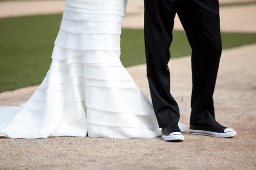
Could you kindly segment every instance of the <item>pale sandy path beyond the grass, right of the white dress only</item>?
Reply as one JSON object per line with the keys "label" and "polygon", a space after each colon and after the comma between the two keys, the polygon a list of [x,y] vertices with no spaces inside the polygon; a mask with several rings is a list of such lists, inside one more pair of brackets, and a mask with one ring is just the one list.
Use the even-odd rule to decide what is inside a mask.
{"label": "pale sandy path beyond the grass, right of the white dress only", "polygon": [[[136,2],[135,2],[136,1]],[[222,2],[222,1],[220,1]],[[222,3],[230,3],[223,1]],[[239,1],[234,1],[239,2]],[[241,1],[240,1],[241,2]],[[242,1],[243,2],[243,1]],[[246,1],[247,2],[247,1]],[[143,1],[131,0],[127,5],[124,28],[143,29]],[[220,8],[221,31],[223,32],[256,32],[256,5],[230,6]],[[183,30],[179,17],[175,17],[175,30]]]}

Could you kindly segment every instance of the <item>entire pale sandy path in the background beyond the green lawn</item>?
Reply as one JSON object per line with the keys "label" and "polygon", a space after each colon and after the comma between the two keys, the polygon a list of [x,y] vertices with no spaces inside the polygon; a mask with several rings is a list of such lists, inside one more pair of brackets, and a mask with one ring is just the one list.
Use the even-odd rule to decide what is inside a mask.
{"label": "entire pale sandy path in the background beyond the green lawn", "polygon": [[[255,0],[221,0],[221,4],[255,2]],[[62,13],[65,1],[0,1],[0,18],[38,14]],[[129,0],[123,28],[143,29],[143,0]],[[224,32],[256,32],[256,5],[220,8],[221,30]],[[178,16],[175,30],[183,30]]]}

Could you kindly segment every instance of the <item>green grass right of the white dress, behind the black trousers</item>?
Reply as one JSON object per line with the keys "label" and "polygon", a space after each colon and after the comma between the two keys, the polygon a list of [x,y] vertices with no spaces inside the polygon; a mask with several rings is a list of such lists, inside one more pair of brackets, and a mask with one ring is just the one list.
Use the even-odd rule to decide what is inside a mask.
{"label": "green grass right of the white dress, behind the black trousers", "polygon": [[[121,35],[121,61],[124,66],[145,62],[143,30],[123,29]],[[188,56],[191,48],[183,31],[173,31],[171,58]],[[255,33],[222,33],[223,49],[256,43]]]}

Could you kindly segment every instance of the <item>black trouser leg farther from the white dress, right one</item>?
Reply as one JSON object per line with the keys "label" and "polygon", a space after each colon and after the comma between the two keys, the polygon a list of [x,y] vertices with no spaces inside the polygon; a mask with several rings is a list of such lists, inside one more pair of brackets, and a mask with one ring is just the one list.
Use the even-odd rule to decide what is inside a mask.
{"label": "black trouser leg farther from the white dress, right one", "polygon": [[190,125],[215,120],[214,94],[221,57],[218,0],[177,1],[176,8],[192,48],[193,90]]}

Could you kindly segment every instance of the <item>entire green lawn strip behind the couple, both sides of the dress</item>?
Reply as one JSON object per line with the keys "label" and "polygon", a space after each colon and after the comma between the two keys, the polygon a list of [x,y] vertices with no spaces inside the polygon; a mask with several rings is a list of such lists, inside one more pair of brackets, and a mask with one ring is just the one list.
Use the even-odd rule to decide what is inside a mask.
{"label": "entire green lawn strip behind the couple, both sides of the dress", "polygon": [[[0,19],[0,92],[39,84],[51,63],[61,15]],[[145,62],[143,30],[123,29],[121,61],[124,66]],[[223,33],[223,48],[256,43],[256,34]],[[190,55],[182,31],[174,31],[172,58]]]}

